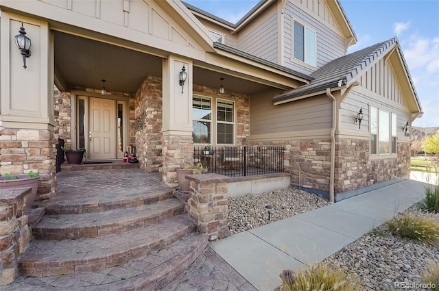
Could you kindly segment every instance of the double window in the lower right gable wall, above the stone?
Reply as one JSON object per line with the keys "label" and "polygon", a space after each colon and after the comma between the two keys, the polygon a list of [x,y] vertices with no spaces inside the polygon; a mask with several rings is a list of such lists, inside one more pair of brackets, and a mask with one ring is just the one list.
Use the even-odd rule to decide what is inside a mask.
{"label": "double window in the lower right gable wall, above the stone", "polygon": [[396,114],[370,107],[370,154],[396,153]]}

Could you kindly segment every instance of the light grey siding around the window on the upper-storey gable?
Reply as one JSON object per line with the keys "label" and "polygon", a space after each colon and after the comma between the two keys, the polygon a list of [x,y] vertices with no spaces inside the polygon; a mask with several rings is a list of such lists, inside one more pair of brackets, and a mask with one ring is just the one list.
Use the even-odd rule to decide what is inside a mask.
{"label": "light grey siding around the window on the upper-storey gable", "polygon": [[[305,5],[304,3],[307,3]],[[324,66],[346,54],[346,39],[342,36],[342,31],[329,12],[329,8],[324,3],[313,3],[317,1],[288,1],[283,13],[284,33],[284,66],[299,71],[300,73],[310,74],[317,68]],[[311,3],[313,3],[311,5]],[[300,5],[299,5],[300,4]],[[313,8],[312,10],[310,9]],[[293,58],[293,22],[305,25],[309,29],[316,31],[316,67],[310,66],[305,62]]]}

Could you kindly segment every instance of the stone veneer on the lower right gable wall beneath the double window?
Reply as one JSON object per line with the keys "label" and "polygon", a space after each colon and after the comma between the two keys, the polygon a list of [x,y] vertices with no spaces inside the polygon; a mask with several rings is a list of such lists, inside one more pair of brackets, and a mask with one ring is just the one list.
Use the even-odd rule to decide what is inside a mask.
{"label": "stone veneer on the lower right gable wall beneath the double window", "polygon": [[398,142],[398,155],[369,160],[369,140],[338,138],[334,192],[341,193],[410,175],[410,143]]}

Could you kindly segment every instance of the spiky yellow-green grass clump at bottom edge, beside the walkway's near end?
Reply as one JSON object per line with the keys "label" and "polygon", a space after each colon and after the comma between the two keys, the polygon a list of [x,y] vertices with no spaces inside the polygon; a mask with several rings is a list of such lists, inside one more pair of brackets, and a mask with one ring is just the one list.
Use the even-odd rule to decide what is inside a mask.
{"label": "spiky yellow-green grass clump at bottom edge, beside the walkway's near end", "polygon": [[284,284],[283,291],[360,291],[364,290],[361,284],[346,279],[342,269],[333,270],[326,264],[312,266],[296,274],[294,283]]}

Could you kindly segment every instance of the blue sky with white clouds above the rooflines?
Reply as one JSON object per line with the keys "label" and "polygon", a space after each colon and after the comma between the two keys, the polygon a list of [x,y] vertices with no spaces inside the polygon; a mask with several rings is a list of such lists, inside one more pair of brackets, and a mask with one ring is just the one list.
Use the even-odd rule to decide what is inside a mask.
{"label": "blue sky with white clouds above the rooflines", "polygon": [[[259,0],[183,0],[237,23]],[[396,36],[423,108],[417,127],[439,127],[439,0],[341,0],[357,35],[352,53]]]}

